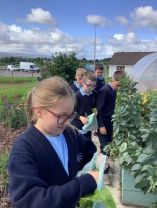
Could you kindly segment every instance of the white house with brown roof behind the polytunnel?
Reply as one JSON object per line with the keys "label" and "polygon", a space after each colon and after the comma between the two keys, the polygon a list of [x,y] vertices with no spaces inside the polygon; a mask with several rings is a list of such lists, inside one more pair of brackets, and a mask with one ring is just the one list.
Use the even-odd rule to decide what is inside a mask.
{"label": "white house with brown roof behind the polytunnel", "polygon": [[114,53],[109,62],[109,77],[112,77],[116,70],[124,70],[129,74],[133,66],[143,57],[154,52],[117,52]]}

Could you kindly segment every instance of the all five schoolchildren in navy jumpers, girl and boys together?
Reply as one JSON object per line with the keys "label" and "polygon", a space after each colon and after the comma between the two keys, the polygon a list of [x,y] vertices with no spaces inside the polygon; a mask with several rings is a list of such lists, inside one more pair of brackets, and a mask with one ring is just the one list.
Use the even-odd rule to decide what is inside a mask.
{"label": "all five schoolchildren in navy jumpers, girl and boys together", "polygon": [[14,143],[8,163],[15,208],[75,208],[81,197],[97,187],[98,171],[77,176],[96,152],[91,132],[81,129],[96,106],[98,134],[108,136],[121,75],[114,74],[104,84],[102,69],[95,74],[81,70],[82,75],[76,72],[75,86],[55,76],[40,81],[28,95],[30,126]]}

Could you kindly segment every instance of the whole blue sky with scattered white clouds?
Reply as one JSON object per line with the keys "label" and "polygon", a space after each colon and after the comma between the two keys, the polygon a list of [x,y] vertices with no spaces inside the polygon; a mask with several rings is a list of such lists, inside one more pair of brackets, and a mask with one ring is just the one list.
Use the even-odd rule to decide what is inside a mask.
{"label": "whole blue sky with scattered white clouds", "polygon": [[157,51],[157,0],[0,0],[0,51],[93,59]]}

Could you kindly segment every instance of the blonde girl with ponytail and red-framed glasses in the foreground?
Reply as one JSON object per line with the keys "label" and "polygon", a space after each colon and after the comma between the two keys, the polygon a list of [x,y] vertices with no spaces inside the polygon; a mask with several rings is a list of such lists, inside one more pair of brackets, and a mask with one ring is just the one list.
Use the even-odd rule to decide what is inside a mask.
{"label": "blonde girl with ponytail and red-framed glasses in the foreground", "polygon": [[75,95],[60,77],[42,80],[29,94],[32,125],[16,140],[8,164],[15,208],[75,208],[95,191],[98,172],[77,177],[96,147],[70,125],[74,105]]}

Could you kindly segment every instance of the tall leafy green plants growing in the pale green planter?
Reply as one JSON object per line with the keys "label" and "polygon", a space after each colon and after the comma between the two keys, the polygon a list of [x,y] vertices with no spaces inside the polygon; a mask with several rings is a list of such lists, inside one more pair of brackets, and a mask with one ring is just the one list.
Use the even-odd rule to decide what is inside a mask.
{"label": "tall leafy green plants growing in the pale green planter", "polygon": [[113,142],[106,150],[134,175],[135,187],[157,192],[157,110],[148,100],[143,103],[136,84],[129,77],[121,80],[113,115]]}

